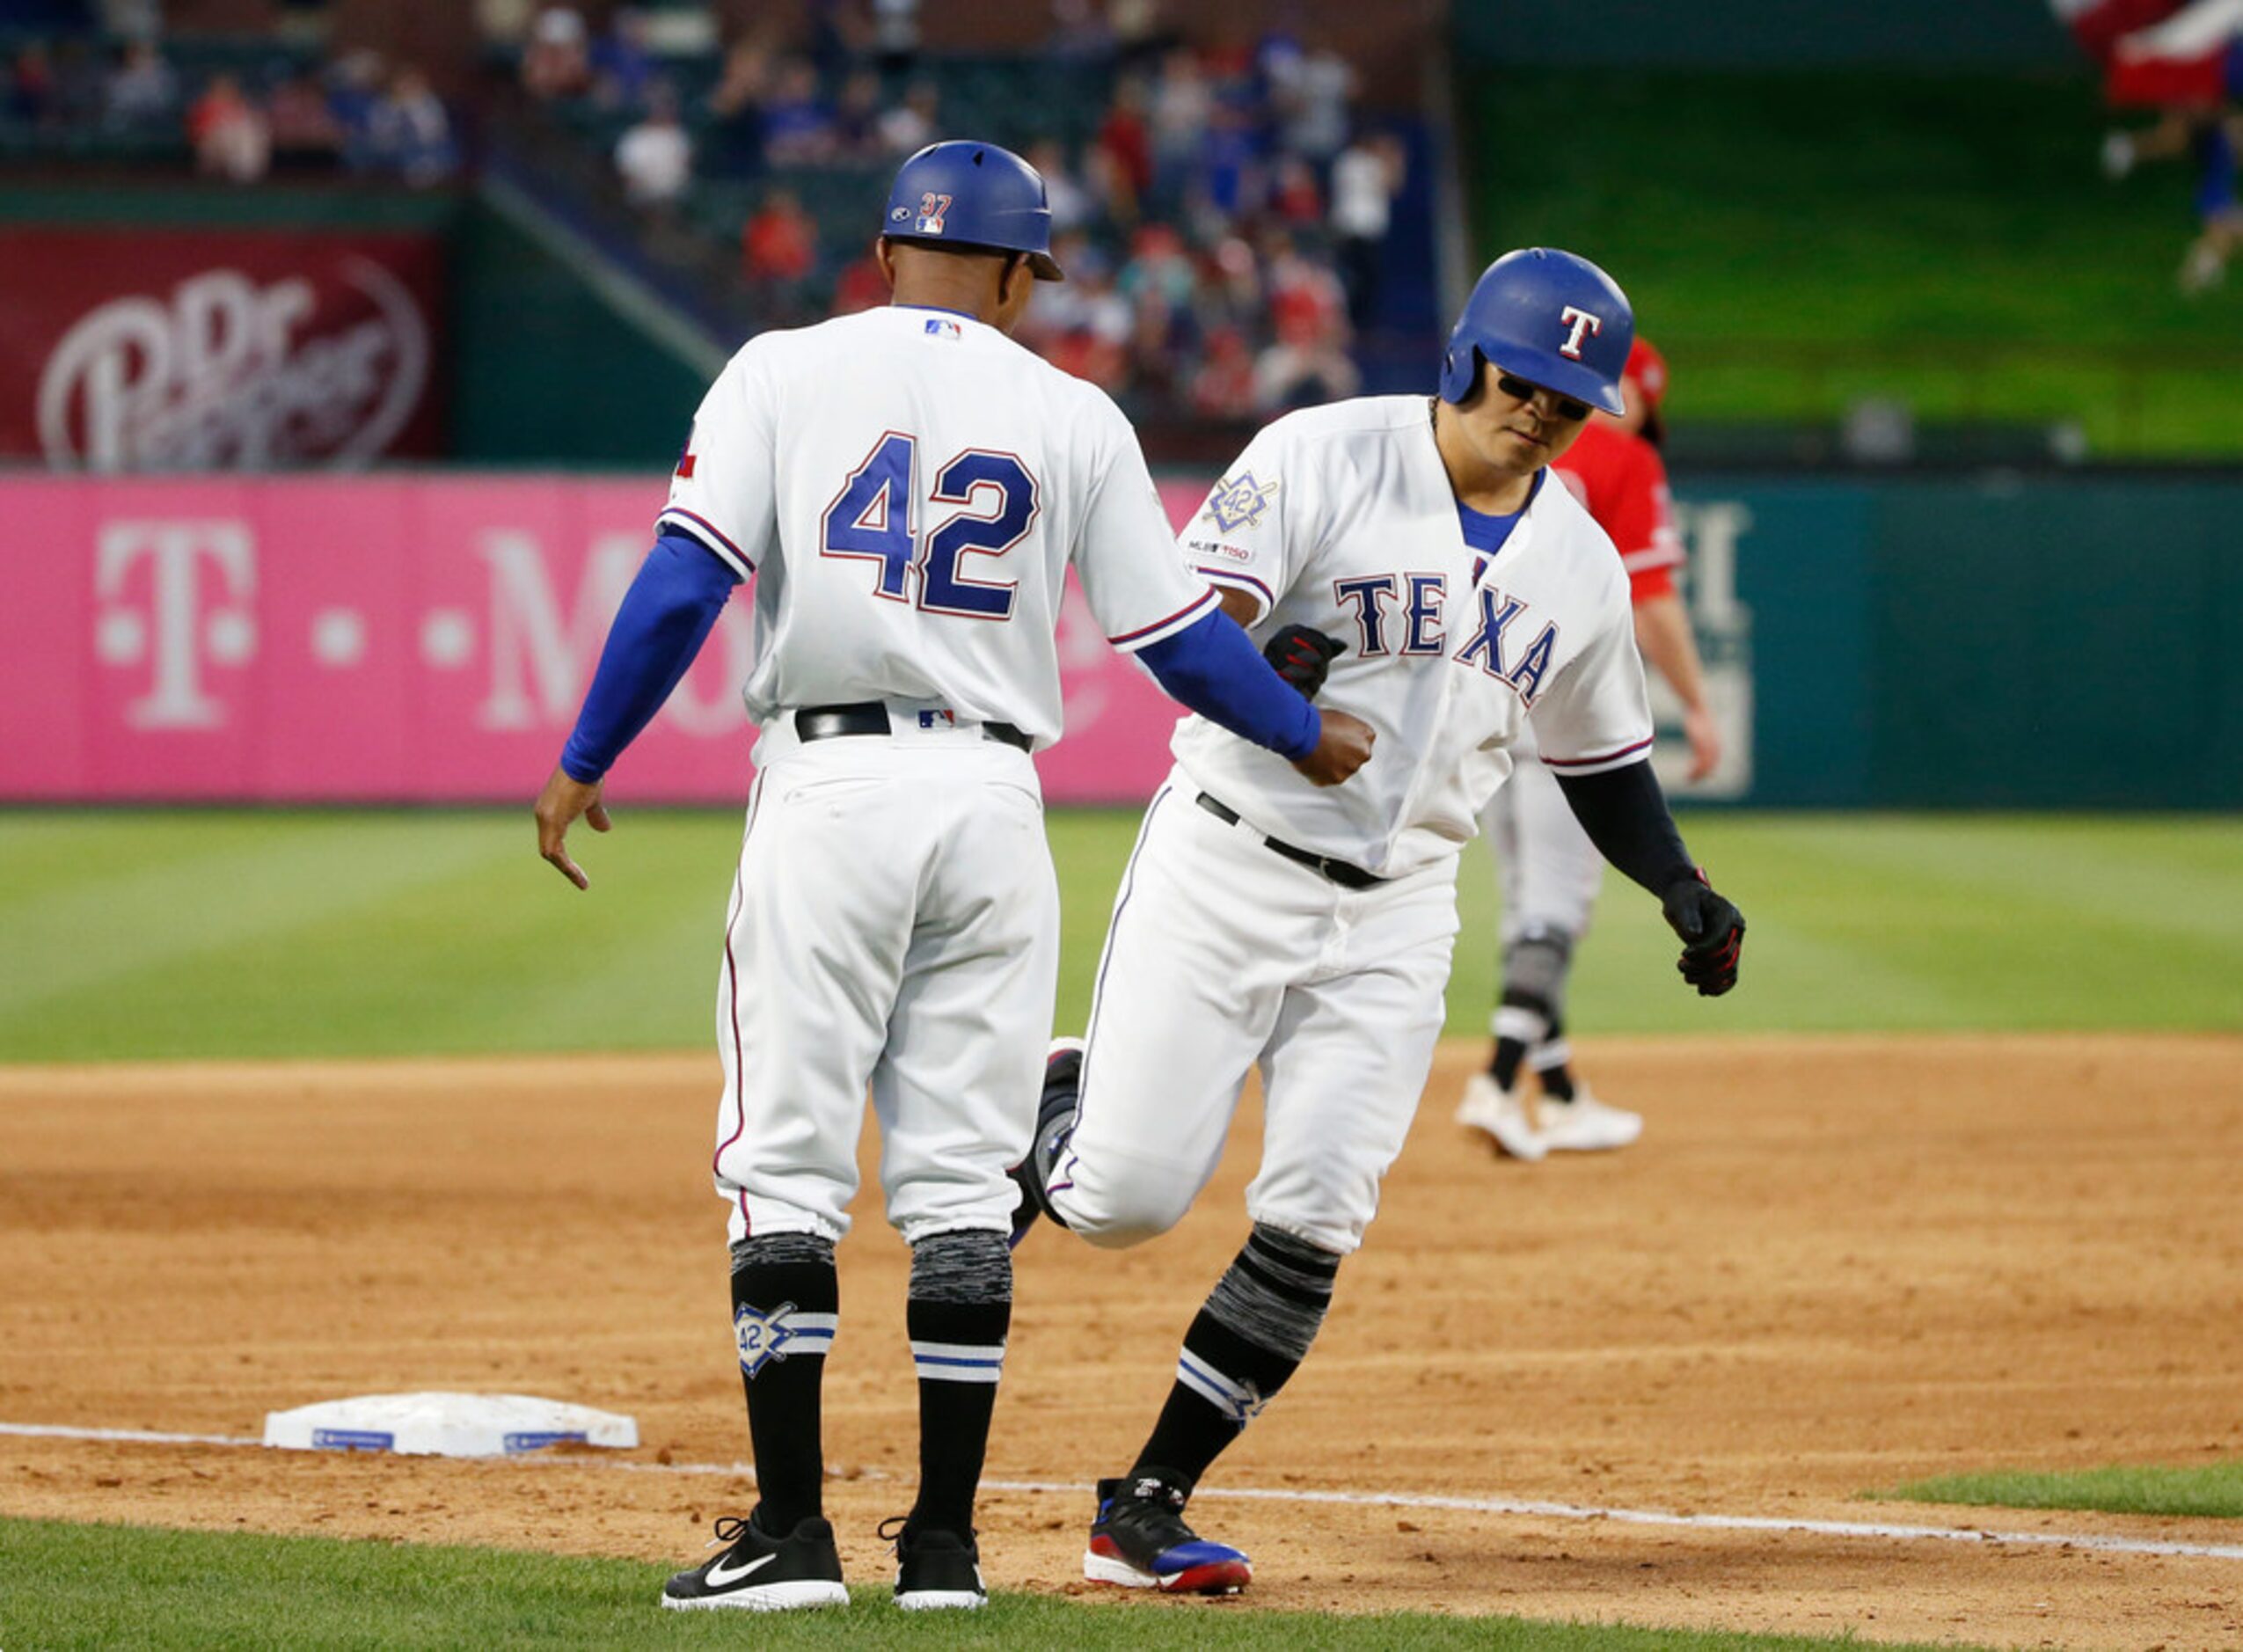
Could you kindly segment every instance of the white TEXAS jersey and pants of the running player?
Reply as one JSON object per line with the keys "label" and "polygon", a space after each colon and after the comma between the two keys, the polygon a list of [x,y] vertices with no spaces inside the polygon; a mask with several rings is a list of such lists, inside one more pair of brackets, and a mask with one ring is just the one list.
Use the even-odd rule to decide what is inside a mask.
{"label": "white TEXAS jersey and pants of the running player", "polygon": [[[1480,568],[1424,397],[1292,413],[1182,534],[1254,631],[1341,637],[1319,705],[1377,750],[1344,786],[1191,718],[1122,875],[1052,1208],[1092,1243],[1173,1226],[1207,1185],[1249,1068],[1263,1163],[1247,1212],[1348,1252],[1377,1210],[1442,1024],[1458,848],[1532,714],[1577,774],[1642,761],[1651,705],[1628,577],[1543,478]],[[1225,813],[1200,806],[1218,799]],[[1386,878],[1355,887],[1265,839]]]}

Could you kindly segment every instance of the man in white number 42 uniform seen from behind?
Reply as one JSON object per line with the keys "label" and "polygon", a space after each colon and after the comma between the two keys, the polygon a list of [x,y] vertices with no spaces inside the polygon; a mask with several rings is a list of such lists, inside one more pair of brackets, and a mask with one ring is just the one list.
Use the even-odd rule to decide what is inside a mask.
{"label": "man in white number 42 uniform seen from behind", "polygon": [[1173,554],[1113,402],[1007,337],[1034,283],[1061,278],[1034,168],[935,144],[904,162],[881,229],[890,308],[765,332],[709,388],[538,799],[541,853],[583,887],[567,826],[608,830],[601,777],[754,579],[758,774],[718,976],[713,1172],[760,1499],[671,1578],[675,1609],[848,1600],[819,1394],[868,1086],[920,1374],[920,1495],[884,1531],[895,1596],[985,1600],[973,1493],[1012,1320],[1007,1172],[1059,947],[1030,752],[1061,732],[1068,568],[1115,646],[1310,788],[1373,738],[1317,716]]}

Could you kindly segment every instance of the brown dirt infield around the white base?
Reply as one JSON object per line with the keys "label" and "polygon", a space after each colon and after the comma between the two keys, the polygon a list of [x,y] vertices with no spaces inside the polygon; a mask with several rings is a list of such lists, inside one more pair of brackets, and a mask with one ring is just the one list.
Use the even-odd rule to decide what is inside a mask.
{"label": "brown dirt infield around the white base", "polygon": [[[2243,1542],[1855,1499],[2243,1454],[2243,1039],[1606,1041],[1590,1071],[1644,1142],[1539,1167],[1449,1125],[1471,1057],[1444,1053],[1317,1353],[1198,1504],[1256,1555],[1249,1600],[2243,1648],[2243,1560],[1218,1499]],[[716,1077],[713,1055],[0,1071],[0,1423],[249,1437],[343,1394],[532,1392],[633,1412],[648,1470],[0,1437],[0,1511],[693,1555],[751,1502],[682,1472],[745,1454]],[[1234,1142],[1142,1250],[1023,1248],[989,1472],[1083,1490],[987,1497],[991,1585],[1081,1587],[1088,1481],[1166,1392],[1252,1167]],[[877,1578],[913,1463],[906,1252],[861,1199],[841,1257],[830,1513]]]}

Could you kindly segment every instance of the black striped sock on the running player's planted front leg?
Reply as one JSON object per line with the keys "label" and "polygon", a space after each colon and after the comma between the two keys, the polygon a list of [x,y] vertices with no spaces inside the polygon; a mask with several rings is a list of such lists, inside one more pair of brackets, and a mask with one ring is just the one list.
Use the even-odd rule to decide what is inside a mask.
{"label": "black striped sock on the running player's planted front leg", "polygon": [[1184,1333],[1175,1387],[1130,1475],[1160,1475],[1189,1495],[1301,1369],[1337,1275],[1337,1252],[1256,1223]]}

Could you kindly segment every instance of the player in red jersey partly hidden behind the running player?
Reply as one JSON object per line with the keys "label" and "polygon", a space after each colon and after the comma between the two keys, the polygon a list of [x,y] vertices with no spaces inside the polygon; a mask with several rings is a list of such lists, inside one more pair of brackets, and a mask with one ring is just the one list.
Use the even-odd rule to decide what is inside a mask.
{"label": "player in red jersey partly hidden behind the running player", "polygon": [[[1628,355],[1619,393],[1626,413],[1597,413],[1550,469],[1588,505],[1628,570],[1635,646],[1682,700],[1689,777],[1696,781],[1720,763],[1720,729],[1707,707],[1689,611],[1676,590],[1682,536],[1676,532],[1667,462],[1660,458],[1667,435],[1660,413],[1667,400],[1667,361],[1642,339]],[[1597,1100],[1572,1075],[1566,981],[1572,974],[1572,952],[1588,934],[1604,857],[1572,817],[1557,779],[1534,756],[1532,743],[1514,750],[1514,756],[1516,768],[1483,822],[1503,871],[1503,999],[1492,1026],[1496,1048],[1487,1071],[1465,1086],[1456,1118],[1494,1136],[1512,1158],[1532,1163],[1550,1151],[1626,1147],[1642,1134],[1644,1120]],[[1534,1068],[1539,1098],[1525,1093],[1523,1066]]]}

